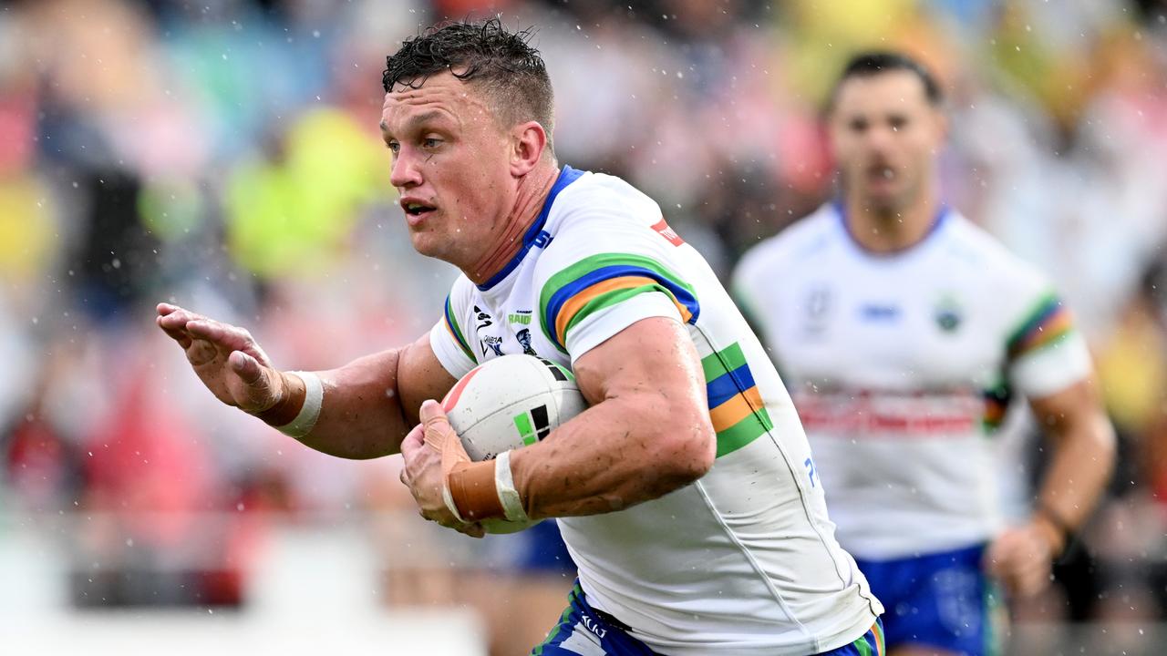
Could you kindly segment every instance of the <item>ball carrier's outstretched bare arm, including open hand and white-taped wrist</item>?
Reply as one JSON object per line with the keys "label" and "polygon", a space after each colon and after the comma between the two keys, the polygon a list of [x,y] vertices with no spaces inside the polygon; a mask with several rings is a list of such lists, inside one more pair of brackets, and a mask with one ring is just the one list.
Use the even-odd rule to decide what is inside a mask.
{"label": "ball carrier's outstretched bare arm, including open hand and white-taped wrist", "polygon": [[[305,379],[275,369],[245,329],[169,303],[159,305],[158,313],[159,327],[182,347],[219,400],[275,427],[301,417],[309,399]],[[320,411],[310,431],[296,439],[351,459],[397,453],[417,423],[421,400],[441,398],[455,383],[426,336],[314,375],[322,392]]]}

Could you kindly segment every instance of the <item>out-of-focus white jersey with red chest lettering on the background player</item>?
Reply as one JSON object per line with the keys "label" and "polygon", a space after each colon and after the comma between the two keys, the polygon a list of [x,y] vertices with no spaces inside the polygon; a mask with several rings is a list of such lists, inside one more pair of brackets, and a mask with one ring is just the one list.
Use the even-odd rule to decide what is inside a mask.
{"label": "out-of-focus white jersey with red chest lettering on the background player", "polygon": [[990,539],[992,439],[1009,399],[1090,372],[1043,278],[952,210],[880,254],[824,205],[749,251],[734,292],[790,384],[839,542],[858,558]]}

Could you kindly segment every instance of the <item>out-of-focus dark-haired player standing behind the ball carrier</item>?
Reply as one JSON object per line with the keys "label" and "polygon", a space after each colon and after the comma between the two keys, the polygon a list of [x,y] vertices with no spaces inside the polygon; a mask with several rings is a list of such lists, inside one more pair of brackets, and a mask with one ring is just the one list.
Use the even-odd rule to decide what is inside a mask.
{"label": "out-of-focus dark-haired player standing behind the ball carrier", "polygon": [[[1069,312],[941,201],[941,105],[916,62],[853,58],[827,111],[840,200],[748,252],[734,281],[901,656],[987,652],[984,574],[1040,591],[1113,462]],[[1054,455],[1032,519],[1002,530],[992,434],[1014,393]]]}

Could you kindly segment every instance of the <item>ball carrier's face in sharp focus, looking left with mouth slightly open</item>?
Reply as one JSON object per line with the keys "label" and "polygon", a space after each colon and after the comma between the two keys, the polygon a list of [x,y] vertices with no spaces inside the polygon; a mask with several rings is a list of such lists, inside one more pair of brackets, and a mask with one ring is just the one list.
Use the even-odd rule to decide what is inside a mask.
{"label": "ball carrier's face in sharp focus, looking left with mouth slightly open", "polygon": [[434,75],[386,93],[380,126],[413,247],[455,265],[480,260],[516,195],[508,135],[482,93]]}

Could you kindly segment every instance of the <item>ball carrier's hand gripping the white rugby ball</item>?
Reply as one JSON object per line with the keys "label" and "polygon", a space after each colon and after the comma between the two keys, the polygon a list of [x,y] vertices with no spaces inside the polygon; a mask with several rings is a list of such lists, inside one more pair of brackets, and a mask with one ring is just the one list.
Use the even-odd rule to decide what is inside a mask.
{"label": "ball carrier's hand gripping the white rugby ball", "polygon": [[481,538],[485,535],[482,525],[477,522],[459,521],[446,507],[442,497],[449,473],[459,465],[470,462],[470,456],[462,447],[462,440],[450,427],[446,412],[438,402],[422,403],[419,418],[421,424],[414,426],[401,442],[401,458],[405,460],[401,482],[410,488],[422,517]]}

